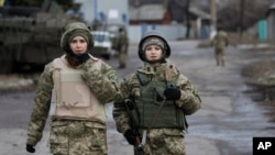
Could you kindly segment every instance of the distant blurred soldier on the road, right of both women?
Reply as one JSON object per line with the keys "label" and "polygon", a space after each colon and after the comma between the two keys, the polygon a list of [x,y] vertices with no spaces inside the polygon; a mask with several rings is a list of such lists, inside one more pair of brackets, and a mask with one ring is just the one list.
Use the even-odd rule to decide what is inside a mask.
{"label": "distant blurred soldier on the road, right of both women", "polygon": [[217,62],[217,66],[220,66],[220,65],[224,66],[226,65],[224,64],[224,51],[229,44],[228,34],[224,31],[222,31],[221,27],[218,27],[217,34],[215,35],[211,44],[215,46],[215,58]]}

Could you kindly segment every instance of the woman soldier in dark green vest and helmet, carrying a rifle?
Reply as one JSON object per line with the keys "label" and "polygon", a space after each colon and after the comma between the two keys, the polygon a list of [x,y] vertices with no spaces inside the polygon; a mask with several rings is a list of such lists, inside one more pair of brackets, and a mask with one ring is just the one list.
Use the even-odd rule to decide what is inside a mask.
{"label": "woman soldier in dark green vest and helmet, carrying a rifle", "polygon": [[122,99],[114,102],[117,130],[134,145],[135,155],[185,155],[185,115],[200,109],[190,80],[167,63],[167,41],[147,32],[139,44],[144,66],[121,84]]}

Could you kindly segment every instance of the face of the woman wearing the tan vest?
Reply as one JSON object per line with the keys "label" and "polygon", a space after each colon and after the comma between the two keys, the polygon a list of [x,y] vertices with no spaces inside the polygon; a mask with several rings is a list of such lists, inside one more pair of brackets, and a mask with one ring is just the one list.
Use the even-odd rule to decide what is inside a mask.
{"label": "face of the woman wearing the tan vest", "polygon": [[87,51],[88,43],[82,36],[75,36],[69,43],[70,49],[74,54],[84,54]]}

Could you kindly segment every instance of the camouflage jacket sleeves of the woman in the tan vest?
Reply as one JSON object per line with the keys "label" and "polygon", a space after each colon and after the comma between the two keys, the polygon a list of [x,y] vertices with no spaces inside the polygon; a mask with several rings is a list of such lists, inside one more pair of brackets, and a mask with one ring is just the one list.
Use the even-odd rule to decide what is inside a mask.
{"label": "camouflage jacket sleeves of the woman in the tan vest", "polygon": [[[95,59],[90,58],[79,65],[77,69],[84,70],[84,80],[101,103],[111,102],[120,95],[117,73],[103,62],[101,63],[100,70],[95,69],[94,64]],[[37,84],[34,97],[35,103],[28,128],[26,143],[31,145],[36,145],[42,139],[42,131],[50,113],[52,90],[54,88],[53,70],[54,66],[52,62],[45,66]]]}

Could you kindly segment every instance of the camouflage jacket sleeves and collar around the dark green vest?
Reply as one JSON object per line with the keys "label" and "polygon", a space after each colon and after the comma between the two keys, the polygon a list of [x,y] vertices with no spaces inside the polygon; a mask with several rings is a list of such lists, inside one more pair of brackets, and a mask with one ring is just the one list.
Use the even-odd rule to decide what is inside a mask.
{"label": "camouflage jacket sleeves and collar around the dark green vest", "polygon": [[[179,70],[175,65],[167,63],[161,65],[145,64],[144,67],[139,69],[139,71],[151,74],[152,80],[163,80],[164,78],[172,78],[174,75],[179,74]],[[164,77],[165,75],[166,77]],[[125,110],[123,99],[132,97],[140,98],[140,87],[141,85],[135,74],[129,75],[121,84],[122,99],[114,102],[112,113],[117,124],[117,130],[121,133],[124,133],[128,129],[130,129],[130,118]],[[182,92],[180,98],[176,101],[176,106],[182,108],[185,114],[193,114],[200,109],[201,100],[198,92],[185,75],[179,74],[176,87],[179,88]]]}

